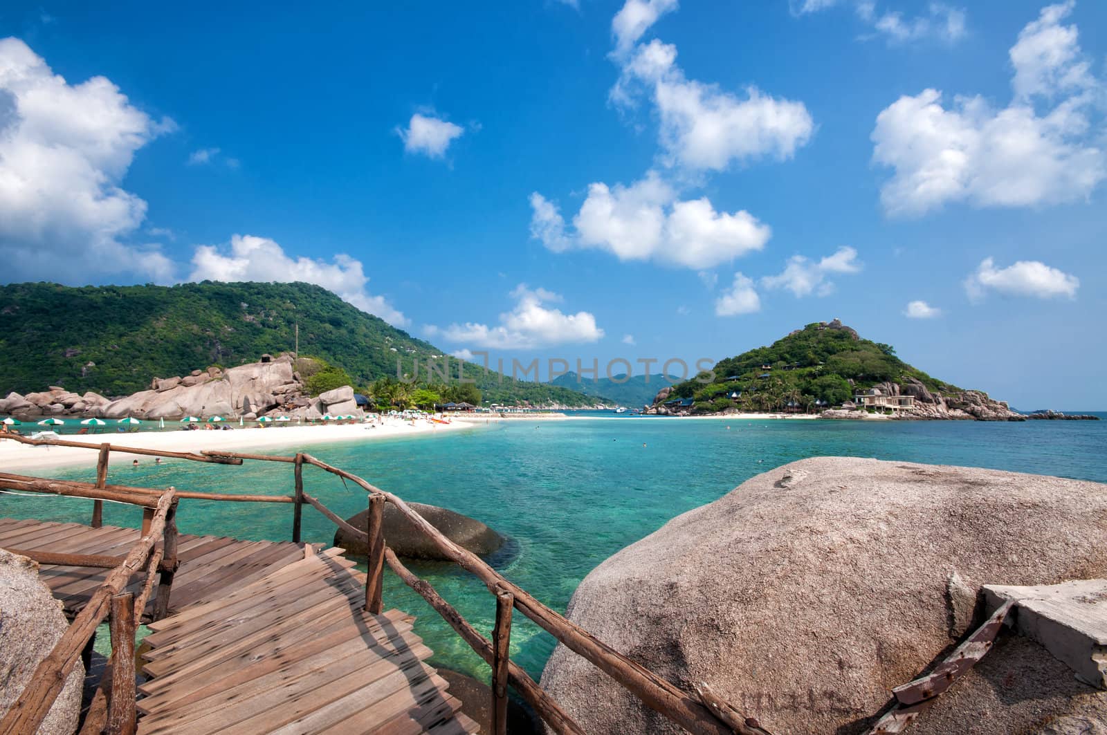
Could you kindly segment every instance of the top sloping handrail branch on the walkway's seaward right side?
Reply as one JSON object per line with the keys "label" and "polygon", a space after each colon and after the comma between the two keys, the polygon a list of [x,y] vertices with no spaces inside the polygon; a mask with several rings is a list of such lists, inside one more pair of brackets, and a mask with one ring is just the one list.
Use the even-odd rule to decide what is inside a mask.
{"label": "top sloping handrail branch on the walkway's seaward right side", "polygon": [[344,477],[369,493],[384,496],[389,503],[394,505],[397,510],[422,530],[447,559],[475,574],[493,594],[496,594],[500,587],[510,592],[515,596],[516,610],[538,623],[538,625],[554,635],[570,651],[583,656],[600,669],[600,671],[611,676],[651,710],[669,717],[684,729],[695,733],[695,735],[733,735],[734,731],[716,717],[697,698],[693,698],[692,695],[683,692],[675,684],[631,661],[607,643],[596,639],[583,628],[547,608],[526,590],[501,577],[499,572],[489,567],[480,557],[443,536],[437,528],[432,526],[430,521],[395,495],[382,490],[356,475],[328,465],[310,454],[304,454],[303,460],[333,475]]}

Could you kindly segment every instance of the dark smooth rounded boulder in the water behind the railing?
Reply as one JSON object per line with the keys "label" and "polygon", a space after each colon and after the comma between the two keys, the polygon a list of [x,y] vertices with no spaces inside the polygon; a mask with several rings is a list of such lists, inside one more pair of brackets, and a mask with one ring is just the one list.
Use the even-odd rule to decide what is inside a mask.
{"label": "dark smooth rounded boulder in the water behind the railing", "polygon": [[[426,518],[432,526],[443,532],[454,544],[473,553],[488,555],[504,545],[504,537],[488,528],[479,520],[463,516],[459,513],[425,505],[408,503],[418,515]],[[369,510],[348,518],[346,522],[359,530],[369,527]],[[410,559],[445,559],[431,539],[426,537],[407,516],[396,510],[391,503],[384,506],[384,542],[396,556]],[[368,552],[365,542],[360,537],[351,537],[341,528],[334,534],[334,546],[345,549],[354,556]]]}

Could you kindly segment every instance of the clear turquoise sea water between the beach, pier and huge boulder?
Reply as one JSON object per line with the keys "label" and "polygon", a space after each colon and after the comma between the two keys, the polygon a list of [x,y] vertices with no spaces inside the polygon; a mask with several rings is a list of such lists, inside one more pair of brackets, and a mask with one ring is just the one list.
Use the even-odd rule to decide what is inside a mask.
{"label": "clear turquoise sea water between the beach, pier and huge boulder", "polygon": [[[509,536],[511,542],[490,560],[493,566],[559,611],[580,580],[622,547],[761,472],[805,457],[851,455],[1107,482],[1107,421],[513,421],[438,437],[308,451],[404,499],[445,506]],[[87,472],[58,475],[94,479]],[[144,459],[137,469],[113,467],[110,482],[283,494],[291,491],[292,469],[257,462],[154,466]],[[304,485],[343,517],[365,507],[362,490],[322,470],[306,468]],[[106,505],[104,522],[138,525],[135,509]],[[0,495],[2,516],[87,522],[91,509],[92,503],[82,499]],[[332,540],[334,527],[320,514],[306,508],[303,520],[304,540]],[[291,508],[188,500],[179,524],[187,534],[287,540]],[[476,578],[445,563],[408,566],[469,622],[490,631],[495,600]],[[416,631],[435,651],[435,664],[487,676],[484,662],[391,572],[384,596],[386,607],[418,617]],[[537,679],[555,641],[521,615],[515,618],[511,656]]]}

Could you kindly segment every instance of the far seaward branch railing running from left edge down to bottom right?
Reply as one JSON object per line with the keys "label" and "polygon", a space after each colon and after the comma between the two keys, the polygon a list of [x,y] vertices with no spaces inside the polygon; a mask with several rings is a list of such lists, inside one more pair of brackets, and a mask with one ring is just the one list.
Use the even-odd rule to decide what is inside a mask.
{"label": "far seaward branch railing running from left edge down to bottom right", "polygon": [[[395,495],[382,490],[361,477],[333,467],[310,454],[300,453],[291,457],[247,454],[237,452],[206,451],[196,453],[184,452],[162,452],[157,449],[145,449],[136,447],[125,447],[114,444],[86,444],[80,442],[60,439],[29,439],[25,437],[10,437],[18,442],[48,446],[71,446],[89,449],[99,449],[100,458],[97,463],[96,487],[90,490],[84,483],[65,483],[62,480],[46,480],[38,478],[25,478],[14,475],[0,474],[0,488],[27,489],[40,493],[60,493],[63,495],[74,495],[77,497],[96,497],[95,490],[100,493],[111,491],[116,497],[136,497],[145,494],[148,498],[154,490],[143,488],[128,488],[106,484],[108,456],[112,452],[124,454],[141,454],[164,457],[175,457],[194,462],[208,462],[225,465],[240,465],[244,460],[281,462],[293,465],[294,494],[291,496],[279,495],[219,495],[214,493],[186,493],[175,491],[174,498],[195,498],[206,500],[225,501],[257,501],[257,503],[291,503],[293,505],[292,540],[300,542],[301,513],[303,504],[308,504],[319,510],[323,516],[342,528],[346,534],[355,535],[366,542],[369,571],[365,579],[365,610],[373,614],[383,611],[382,581],[384,566],[387,565],[395,574],[408,587],[415,590],[439,615],[453,628],[482,659],[484,659],[493,670],[493,732],[503,735],[507,729],[507,687],[514,686],[516,692],[538,713],[555,733],[568,733],[582,735],[581,727],[535,682],[521,666],[510,661],[508,651],[510,646],[511,611],[517,610],[540,628],[549,632],[562,645],[583,656],[590,663],[608,674],[620,686],[635,695],[651,710],[659,712],[670,721],[680,725],[684,729],[696,735],[727,735],[739,733],[741,735],[767,735],[756,721],[744,717],[733,705],[715,696],[710,687],[703,686],[697,693],[686,692],[672,682],[654,674],[649,669],[630,660],[619,653],[608,644],[594,638],[587,630],[576,623],[570,622],[558,612],[546,607],[526,590],[514,584],[504,578],[498,571],[475,553],[454,544],[444,536],[437,528],[431,525],[423,516],[412,509],[403,499]],[[369,519],[366,531],[354,528],[340,516],[331,511],[318,498],[312,497],[303,488],[303,466],[311,465],[327,473],[350,480],[369,494]],[[64,490],[64,491],[62,491]],[[134,501],[134,500],[127,500]],[[496,624],[493,630],[493,640],[482,635],[455,608],[446,602],[435,589],[425,580],[412,573],[400,561],[396,555],[390,549],[384,539],[382,518],[384,504],[391,503],[402,515],[404,515],[420,531],[426,536],[438,548],[445,559],[453,561],[461,568],[473,573],[488,588],[496,600]],[[93,522],[99,522],[97,510],[93,511]],[[143,537],[146,538],[145,536]],[[170,583],[172,583],[172,572]],[[163,577],[164,579],[164,577]],[[167,600],[167,596],[166,596]],[[161,602],[161,599],[159,599]],[[87,609],[87,608],[86,608]],[[83,613],[82,613],[83,614]],[[74,623],[75,624],[75,623]],[[93,629],[95,627],[93,625]],[[91,633],[90,633],[91,634]],[[87,639],[85,639],[87,640]],[[4,720],[7,723],[7,718]],[[0,735],[8,732],[0,729]]]}

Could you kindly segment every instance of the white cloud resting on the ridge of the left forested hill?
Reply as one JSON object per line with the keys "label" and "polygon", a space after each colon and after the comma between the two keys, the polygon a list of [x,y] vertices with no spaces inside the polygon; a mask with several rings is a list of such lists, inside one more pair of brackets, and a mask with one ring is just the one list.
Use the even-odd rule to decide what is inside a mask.
{"label": "white cloud resting on the ridge of the left forested hill", "polygon": [[235,235],[230,238],[230,252],[201,245],[193,255],[189,281],[262,281],[290,283],[303,281],[333,291],[362,311],[375,314],[396,327],[407,324],[407,319],[384,297],[372,296],[365,290],[369,277],[360,260],[346,255],[334,256],[333,262],[311,258],[292,258],[273,240],[254,235]]}

